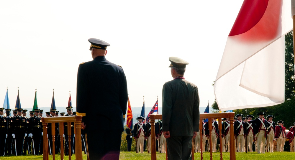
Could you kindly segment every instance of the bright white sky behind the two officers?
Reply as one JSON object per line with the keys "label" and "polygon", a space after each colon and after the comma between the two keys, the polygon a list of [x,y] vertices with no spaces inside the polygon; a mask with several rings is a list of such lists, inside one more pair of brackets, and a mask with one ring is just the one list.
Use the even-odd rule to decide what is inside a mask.
{"label": "bright white sky behind the two officers", "polygon": [[[152,107],[172,80],[171,56],[188,61],[184,77],[199,88],[200,107],[212,105],[227,36],[242,0],[0,1],[0,105],[6,86],[14,109],[76,106],[78,66],[92,60],[89,38],[111,44],[106,59],[121,65],[131,107]],[[97,91],[102,92],[102,91]]]}

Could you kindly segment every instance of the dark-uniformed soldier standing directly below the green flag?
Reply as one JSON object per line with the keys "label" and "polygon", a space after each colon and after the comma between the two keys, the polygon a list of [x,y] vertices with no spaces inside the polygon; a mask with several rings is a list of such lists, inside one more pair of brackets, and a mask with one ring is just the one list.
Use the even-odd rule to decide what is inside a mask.
{"label": "dark-uniformed soldier standing directly below the green flag", "polygon": [[[41,136],[43,136],[42,121],[39,117],[39,109],[35,109],[35,116],[29,120],[29,136],[34,140],[35,155],[39,155]],[[33,145],[33,144],[32,144]],[[32,151],[34,153],[34,151]]]}

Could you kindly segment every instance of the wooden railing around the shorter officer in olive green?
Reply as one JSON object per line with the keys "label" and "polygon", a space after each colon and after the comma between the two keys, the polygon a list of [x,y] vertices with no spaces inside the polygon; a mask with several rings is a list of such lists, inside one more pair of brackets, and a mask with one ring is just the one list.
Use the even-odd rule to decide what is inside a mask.
{"label": "wooden railing around the shorter officer in olive green", "polygon": [[[234,112],[226,112],[226,113],[203,113],[200,114],[200,125],[199,130],[202,131],[203,129],[203,118],[209,119],[209,137],[210,139],[212,136],[212,119],[216,118],[218,119],[218,128],[219,128],[219,139],[221,138],[221,130],[222,130],[222,118],[229,118],[230,119],[230,160],[236,159],[236,153],[235,153],[235,136],[234,136]],[[162,114],[150,114],[150,122],[151,122],[151,135],[155,135],[155,119],[162,119]],[[205,134],[205,133],[204,133]],[[201,134],[200,134],[201,135]],[[202,136],[200,136],[200,142],[202,142]],[[221,141],[220,141],[221,142]],[[210,140],[210,159],[212,160],[212,141]],[[166,148],[167,149],[167,148]],[[201,149],[201,160],[203,159],[203,147],[202,143],[200,143],[200,149]],[[222,160],[222,145],[220,145],[220,160]],[[192,149],[192,155],[194,155],[193,149]],[[194,156],[193,156],[194,157]],[[151,137],[151,160],[156,160],[156,139],[154,136]],[[166,151],[166,159],[167,158],[167,151]],[[194,158],[193,158],[194,159]]]}

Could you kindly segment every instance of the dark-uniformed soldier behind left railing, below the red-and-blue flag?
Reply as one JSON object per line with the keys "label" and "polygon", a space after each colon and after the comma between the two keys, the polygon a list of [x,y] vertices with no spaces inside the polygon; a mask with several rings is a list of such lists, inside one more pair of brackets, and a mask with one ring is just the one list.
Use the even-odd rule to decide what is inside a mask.
{"label": "dark-uniformed soldier behind left railing, below the red-and-blue flag", "polygon": [[[69,106],[66,107],[68,114],[65,116],[73,116],[73,107]],[[68,123],[63,123],[64,129],[63,129],[63,134],[64,134],[64,139],[65,139],[65,155],[69,155],[69,136],[68,136]],[[73,146],[74,146],[74,122],[71,123],[71,155],[73,154]]]}

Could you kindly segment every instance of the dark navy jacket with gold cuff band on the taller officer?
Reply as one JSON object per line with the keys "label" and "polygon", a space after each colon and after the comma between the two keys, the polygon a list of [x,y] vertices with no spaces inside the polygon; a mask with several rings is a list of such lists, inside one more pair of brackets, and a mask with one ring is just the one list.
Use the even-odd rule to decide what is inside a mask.
{"label": "dark navy jacket with gold cuff band on the taller officer", "polygon": [[[123,69],[98,56],[81,63],[77,75],[77,115],[87,130],[124,131],[127,110],[127,80]],[[99,112],[96,112],[99,111]],[[95,113],[95,114],[94,114]]]}

